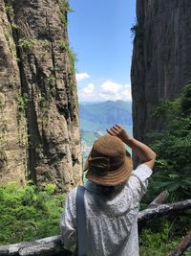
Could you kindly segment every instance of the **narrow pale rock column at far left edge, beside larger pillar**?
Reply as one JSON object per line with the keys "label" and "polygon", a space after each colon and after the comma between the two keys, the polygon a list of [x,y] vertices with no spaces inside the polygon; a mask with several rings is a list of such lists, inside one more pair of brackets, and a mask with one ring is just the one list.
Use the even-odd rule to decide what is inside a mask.
{"label": "narrow pale rock column at far left edge, beside larger pillar", "polygon": [[0,181],[23,184],[26,174],[26,122],[18,111],[21,93],[11,24],[0,1]]}

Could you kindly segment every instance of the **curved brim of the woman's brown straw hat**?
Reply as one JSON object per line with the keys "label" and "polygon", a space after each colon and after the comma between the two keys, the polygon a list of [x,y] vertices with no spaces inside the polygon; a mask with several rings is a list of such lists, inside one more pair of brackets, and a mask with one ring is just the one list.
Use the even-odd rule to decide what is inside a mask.
{"label": "curved brim of the woman's brown straw hat", "polygon": [[[84,171],[88,170],[88,168],[89,168],[89,163],[87,158]],[[132,171],[133,171],[132,158],[129,156],[126,156],[124,164],[120,168],[118,168],[116,171],[110,171],[105,176],[99,176],[91,172],[90,170],[88,170],[86,177],[98,185],[117,186],[127,181],[129,176],[132,174]]]}

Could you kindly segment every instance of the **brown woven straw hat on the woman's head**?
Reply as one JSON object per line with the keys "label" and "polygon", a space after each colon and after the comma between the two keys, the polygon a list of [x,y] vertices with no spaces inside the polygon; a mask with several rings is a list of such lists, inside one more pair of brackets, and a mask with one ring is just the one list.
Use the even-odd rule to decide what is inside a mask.
{"label": "brown woven straw hat on the woman's head", "polygon": [[116,186],[132,174],[133,164],[119,138],[103,135],[93,145],[85,163],[86,170],[86,177],[96,184]]}

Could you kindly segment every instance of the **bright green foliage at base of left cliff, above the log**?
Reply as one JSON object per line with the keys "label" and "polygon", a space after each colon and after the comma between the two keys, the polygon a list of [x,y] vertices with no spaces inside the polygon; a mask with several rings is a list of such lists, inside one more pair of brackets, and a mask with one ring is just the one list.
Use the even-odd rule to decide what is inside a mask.
{"label": "bright green foliage at base of left cliff, above the log", "polygon": [[0,185],[0,244],[31,241],[60,232],[59,221],[64,197],[54,194],[55,186],[44,191],[14,182]]}

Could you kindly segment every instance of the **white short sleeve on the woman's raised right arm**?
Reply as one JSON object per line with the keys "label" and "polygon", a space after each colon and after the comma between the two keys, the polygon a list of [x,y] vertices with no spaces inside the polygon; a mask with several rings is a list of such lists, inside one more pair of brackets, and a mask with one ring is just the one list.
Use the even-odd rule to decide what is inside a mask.
{"label": "white short sleeve on the woman's raised right arm", "polygon": [[141,199],[146,193],[148,187],[148,178],[152,175],[153,171],[145,164],[141,164],[133,171],[129,178],[129,186],[138,194],[138,199]]}

